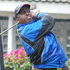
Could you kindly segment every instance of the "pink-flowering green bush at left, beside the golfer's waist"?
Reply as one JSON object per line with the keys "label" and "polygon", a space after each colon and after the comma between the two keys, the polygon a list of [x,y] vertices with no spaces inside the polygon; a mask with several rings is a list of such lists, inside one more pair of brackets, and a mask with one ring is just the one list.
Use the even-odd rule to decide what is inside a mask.
{"label": "pink-flowering green bush at left, beside the golfer's waist", "polygon": [[4,66],[6,70],[30,70],[31,64],[28,61],[24,48],[5,53]]}

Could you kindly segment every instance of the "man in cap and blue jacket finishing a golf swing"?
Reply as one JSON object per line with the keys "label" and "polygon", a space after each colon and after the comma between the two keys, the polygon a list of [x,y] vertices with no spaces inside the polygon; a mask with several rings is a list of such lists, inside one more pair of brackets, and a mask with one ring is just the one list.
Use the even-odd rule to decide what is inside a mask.
{"label": "man in cap and blue jacket finishing a golf swing", "polygon": [[29,4],[15,9],[17,34],[33,64],[32,70],[57,70],[65,67],[66,55],[51,32],[55,22],[47,13],[30,11]]}

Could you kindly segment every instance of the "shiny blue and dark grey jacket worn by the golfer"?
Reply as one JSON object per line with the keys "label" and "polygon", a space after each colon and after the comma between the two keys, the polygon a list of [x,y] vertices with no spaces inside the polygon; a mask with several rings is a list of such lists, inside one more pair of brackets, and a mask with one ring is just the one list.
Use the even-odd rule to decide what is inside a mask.
{"label": "shiny blue and dark grey jacket worn by the golfer", "polygon": [[[22,45],[24,46],[29,61],[30,56],[35,52],[34,47],[36,47],[31,47],[31,43],[35,40],[37,43],[38,40],[43,38],[44,48],[42,49],[40,56],[41,64],[33,63],[35,68],[62,68],[65,66],[67,57],[55,35],[51,32],[54,24],[54,19],[51,16],[46,13],[39,13],[36,19],[26,24],[17,25],[17,34]],[[41,45],[42,43],[39,43],[39,49]]]}

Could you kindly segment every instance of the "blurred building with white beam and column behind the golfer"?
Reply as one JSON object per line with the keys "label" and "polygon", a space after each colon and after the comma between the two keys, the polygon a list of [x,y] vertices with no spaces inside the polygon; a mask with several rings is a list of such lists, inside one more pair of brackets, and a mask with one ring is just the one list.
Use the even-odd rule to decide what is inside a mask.
{"label": "blurred building with white beam and column behind the golfer", "polygon": [[[32,11],[46,12],[55,19],[53,33],[70,59],[70,0],[0,0],[1,32],[15,24],[14,10],[20,3],[32,4]],[[3,53],[21,48],[16,27],[1,35]]]}

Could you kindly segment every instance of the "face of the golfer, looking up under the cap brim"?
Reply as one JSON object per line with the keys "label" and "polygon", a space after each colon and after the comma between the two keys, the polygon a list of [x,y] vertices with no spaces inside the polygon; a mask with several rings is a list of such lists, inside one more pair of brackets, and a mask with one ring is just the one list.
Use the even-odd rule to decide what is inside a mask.
{"label": "face of the golfer, looking up under the cap brim", "polygon": [[24,10],[21,10],[17,15],[16,20],[19,21],[21,24],[25,24],[27,22],[32,21],[32,14],[30,12],[30,9],[24,8]]}

